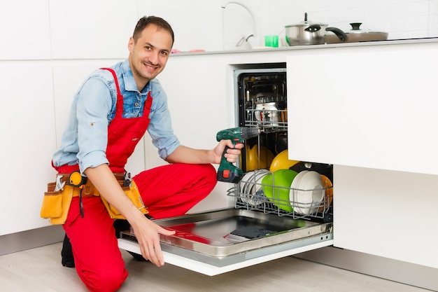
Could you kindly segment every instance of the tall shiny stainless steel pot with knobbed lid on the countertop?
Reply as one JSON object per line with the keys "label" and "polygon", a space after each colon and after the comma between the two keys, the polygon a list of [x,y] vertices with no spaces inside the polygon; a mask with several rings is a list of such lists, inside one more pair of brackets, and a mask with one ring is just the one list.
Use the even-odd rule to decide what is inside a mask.
{"label": "tall shiny stainless steel pot with knobbed lid on the countertop", "polygon": [[289,46],[322,45],[326,28],[326,24],[307,21],[305,13],[304,22],[285,26],[286,42]]}

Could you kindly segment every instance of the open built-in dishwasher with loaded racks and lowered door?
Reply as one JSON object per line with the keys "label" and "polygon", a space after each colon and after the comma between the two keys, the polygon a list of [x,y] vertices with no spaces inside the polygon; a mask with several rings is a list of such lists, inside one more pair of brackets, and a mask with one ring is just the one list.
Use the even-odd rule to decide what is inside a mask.
{"label": "open built-in dishwasher with loaded racks and lowered door", "polygon": [[[285,74],[283,67],[234,71],[238,126],[258,127],[260,134],[245,141],[238,163],[244,175],[227,190],[234,207],[155,221],[176,231],[172,236],[160,235],[167,263],[213,276],[332,245],[332,165],[284,159],[288,149]],[[278,184],[278,172],[293,174],[292,183]],[[311,188],[293,184],[310,173],[318,174],[321,183]],[[295,201],[298,197],[318,200]],[[118,244],[120,249],[140,253],[129,230],[121,232]]]}

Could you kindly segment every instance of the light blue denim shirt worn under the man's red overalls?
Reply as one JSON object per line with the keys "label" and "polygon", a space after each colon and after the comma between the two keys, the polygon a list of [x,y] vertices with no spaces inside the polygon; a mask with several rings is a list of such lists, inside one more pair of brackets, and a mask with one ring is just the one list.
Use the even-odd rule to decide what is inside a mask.
{"label": "light blue denim shirt worn under the man's red overalls", "polygon": [[[123,118],[143,115],[143,106],[148,92],[153,98],[150,109],[148,132],[162,159],[167,158],[179,145],[171,126],[167,108],[167,95],[157,79],[153,79],[141,92],[137,89],[129,61],[111,67],[118,76],[123,95]],[[97,70],[80,86],[71,105],[69,121],[62,135],[61,146],[55,151],[53,165],[78,164],[83,173],[88,167],[97,167],[106,159],[108,125],[115,116],[117,90],[111,72]]]}

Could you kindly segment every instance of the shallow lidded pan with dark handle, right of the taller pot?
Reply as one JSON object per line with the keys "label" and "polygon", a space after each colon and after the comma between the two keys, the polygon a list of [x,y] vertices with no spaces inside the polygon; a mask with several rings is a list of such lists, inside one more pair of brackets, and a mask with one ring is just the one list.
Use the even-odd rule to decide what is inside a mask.
{"label": "shallow lidded pan with dark handle, right of the taller pot", "polygon": [[386,41],[388,39],[388,32],[373,32],[372,30],[360,29],[360,22],[350,24],[352,29],[349,32],[343,32],[336,27],[327,27],[327,32],[333,34],[325,34],[326,43],[357,43],[359,41]]}

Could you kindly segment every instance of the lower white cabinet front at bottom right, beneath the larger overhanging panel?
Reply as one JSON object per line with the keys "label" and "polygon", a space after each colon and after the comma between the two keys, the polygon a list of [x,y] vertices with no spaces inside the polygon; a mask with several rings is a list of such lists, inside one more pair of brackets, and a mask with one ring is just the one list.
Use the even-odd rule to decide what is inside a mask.
{"label": "lower white cabinet front at bottom right, beneath the larger overhanging panel", "polygon": [[438,269],[438,176],[334,165],[334,246]]}

